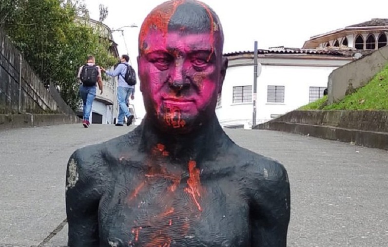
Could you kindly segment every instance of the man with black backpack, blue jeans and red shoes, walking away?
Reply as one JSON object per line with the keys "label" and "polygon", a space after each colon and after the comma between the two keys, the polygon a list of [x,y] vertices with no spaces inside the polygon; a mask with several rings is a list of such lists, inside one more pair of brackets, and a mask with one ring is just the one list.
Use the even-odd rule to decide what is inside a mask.
{"label": "man with black backpack, blue jeans and red shoes, walking away", "polygon": [[96,84],[102,95],[102,77],[101,69],[96,65],[94,56],[88,56],[86,64],[82,65],[78,70],[78,79],[80,80],[79,94],[83,102],[83,121],[82,125],[88,128],[90,125],[89,116],[92,111],[93,101],[96,97]]}

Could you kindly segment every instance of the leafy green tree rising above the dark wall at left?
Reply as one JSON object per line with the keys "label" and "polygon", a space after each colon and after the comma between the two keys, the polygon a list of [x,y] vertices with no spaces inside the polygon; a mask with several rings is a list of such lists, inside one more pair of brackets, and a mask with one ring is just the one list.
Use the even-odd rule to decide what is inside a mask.
{"label": "leafy green tree rising above the dark wall at left", "polygon": [[[0,5],[0,11],[15,7],[10,2]],[[100,13],[100,20],[105,19],[107,8],[100,6]],[[89,11],[79,0],[18,0],[3,28],[43,83],[58,86],[60,95],[76,110],[80,103],[76,75],[86,57],[94,55],[103,67],[116,62],[101,24],[89,25]]]}

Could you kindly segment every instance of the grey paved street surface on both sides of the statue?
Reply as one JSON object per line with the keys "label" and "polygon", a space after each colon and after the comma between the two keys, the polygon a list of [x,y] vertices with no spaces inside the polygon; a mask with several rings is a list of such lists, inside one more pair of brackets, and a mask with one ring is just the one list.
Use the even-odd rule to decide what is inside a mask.
{"label": "grey paved street surface on both sides of the statue", "polygon": [[[70,154],[128,130],[62,125],[0,132],[0,247],[66,246],[67,224],[50,233],[66,217]],[[387,151],[275,131],[226,132],[287,168],[289,247],[387,247]]]}

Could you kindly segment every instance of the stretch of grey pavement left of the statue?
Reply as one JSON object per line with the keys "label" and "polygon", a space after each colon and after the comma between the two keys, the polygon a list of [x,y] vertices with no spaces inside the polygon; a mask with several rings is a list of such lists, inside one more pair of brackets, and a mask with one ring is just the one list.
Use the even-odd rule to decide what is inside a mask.
{"label": "stretch of grey pavement left of the statue", "polygon": [[66,246],[62,222],[71,153],[133,128],[67,124],[0,132],[0,247]]}

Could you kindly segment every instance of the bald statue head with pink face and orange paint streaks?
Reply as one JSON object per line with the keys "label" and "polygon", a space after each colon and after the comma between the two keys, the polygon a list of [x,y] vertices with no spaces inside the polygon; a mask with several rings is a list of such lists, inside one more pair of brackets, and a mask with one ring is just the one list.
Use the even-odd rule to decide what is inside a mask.
{"label": "bald statue head with pink face and orange paint streaks", "polygon": [[228,60],[214,11],[197,0],[170,0],[144,19],[138,76],[149,118],[157,128],[188,133],[215,116]]}

